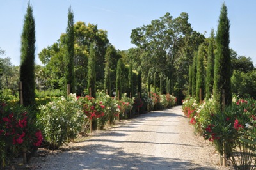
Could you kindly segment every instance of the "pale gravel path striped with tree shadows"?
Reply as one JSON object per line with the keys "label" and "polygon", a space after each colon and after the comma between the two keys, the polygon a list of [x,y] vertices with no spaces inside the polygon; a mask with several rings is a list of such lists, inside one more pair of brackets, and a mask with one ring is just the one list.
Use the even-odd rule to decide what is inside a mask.
{"label": "pale gravel path striped with tree shadows", "polygon": [[40,169],[228,169],[180,106],[143,114],[49,155]]}

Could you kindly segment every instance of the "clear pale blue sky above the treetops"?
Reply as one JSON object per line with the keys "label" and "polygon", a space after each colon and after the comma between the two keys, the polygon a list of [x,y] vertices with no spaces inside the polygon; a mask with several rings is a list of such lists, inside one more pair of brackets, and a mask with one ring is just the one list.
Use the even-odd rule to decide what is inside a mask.
{"label": "clear pale blue sky above the treetops", "polygon": [[[13,65],[20,64],[20,35],[28,0],[0,0],[0,48],[10,56]],[[131,30],[150,24],[166,12],[178,17],[187,12],[194,30],[209,37],[217,29],[223,0],[31,0],[36,23],[36,63],[38,53],[56,42],[67,27],[68,7],[74,20],[97,24],[108,31],[116,49],[135,47],[130,42]],[[237,54],[251,57],[256,64],[256,1],[226,0],[230,19],[230,47]],[[6,57],[4,56],[4,57]]]}

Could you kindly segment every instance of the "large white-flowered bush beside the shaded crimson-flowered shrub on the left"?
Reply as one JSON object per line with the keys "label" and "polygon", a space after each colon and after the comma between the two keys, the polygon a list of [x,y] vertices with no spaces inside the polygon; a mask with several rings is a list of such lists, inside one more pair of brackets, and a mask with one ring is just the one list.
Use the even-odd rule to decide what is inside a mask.
{"label": "large white-flowered bush beside the shaded crimson-flowered shrub on the left", "polygon": [[55,98],[39,109],[38,123],[50,148],[58,148],[65,141],[74,139],[81,130],[85,116],[76,94]]}

